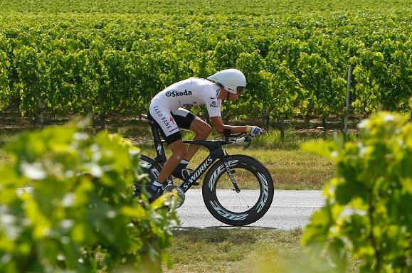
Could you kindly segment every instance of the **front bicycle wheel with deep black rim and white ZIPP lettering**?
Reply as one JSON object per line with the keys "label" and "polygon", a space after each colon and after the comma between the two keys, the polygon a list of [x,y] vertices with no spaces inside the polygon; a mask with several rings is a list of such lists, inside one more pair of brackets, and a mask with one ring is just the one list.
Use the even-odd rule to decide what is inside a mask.
{"label": "front bicycle wheel with deep black rim and white ZIPP lettering", "polygon": [[250,225],[262,218],[273,200],[273,181],[265,166],[250,156],[226,156],[236,192],[223,160],[213,164],[204,178],[204,203],[214,218],[227,225]]}

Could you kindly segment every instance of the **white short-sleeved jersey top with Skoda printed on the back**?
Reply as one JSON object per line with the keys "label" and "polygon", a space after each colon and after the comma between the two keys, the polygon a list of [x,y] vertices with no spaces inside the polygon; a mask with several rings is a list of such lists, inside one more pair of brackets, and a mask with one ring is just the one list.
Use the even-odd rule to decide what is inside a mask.
{"label": "white short-sleeved jersey top with Skoda printed on the back", "polygon": [[221,117],[222,100],[217,98],[219,87],[199,77],[190,77],[170,85],[154,96],[152,101],[163,100],[171,112],[180,107],[206,105],[209,117]]}

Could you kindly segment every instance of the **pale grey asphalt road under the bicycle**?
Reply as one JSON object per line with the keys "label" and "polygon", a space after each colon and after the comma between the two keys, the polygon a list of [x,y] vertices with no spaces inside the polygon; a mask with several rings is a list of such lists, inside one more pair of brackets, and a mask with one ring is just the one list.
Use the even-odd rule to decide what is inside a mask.
{"label": "pale grey asphalt road under the bicycle", "polygon": [[[272,205],[263,218],[241,228],[278,230],[303,228],[309,222],[310,215],[323,204],[321,191],[275,191]],[[182,229],[239,228],[228,226],[213,218],[204,205],[200,189],[186,192],[186,200],[177,209],[177,214],[181,220],[179,228]]]}

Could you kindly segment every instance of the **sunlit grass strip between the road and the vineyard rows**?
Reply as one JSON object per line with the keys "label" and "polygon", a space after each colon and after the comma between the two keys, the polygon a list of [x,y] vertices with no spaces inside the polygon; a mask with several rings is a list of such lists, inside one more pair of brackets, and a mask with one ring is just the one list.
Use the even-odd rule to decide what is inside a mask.
{"label": "sunlit grass strip between the road and the vineyard rows", "polygon": [[[116,131],[124,135],[125,139],[131,140],[134,145],[138,146],[142,154],[155,156],[156,151],[150,142],[149,128],[137,127],[132,130],[130,127],[121,127]],[[14,139],[17,134],[18,132],[3,130],[0,132],[0,163],[7,160],[4,145]],[[91,134],[94,134],[94,132],[91,132]],[[273,178],[275,189],[278,190],[319,190],[324,183],[334,176],[336,168],[329,159],[292,148],[300,146],[308,137],[302,137],[300,134],[289,132],[286,139],[289,144],[282,149],[276,148],[278,144],[275,144],[275,142],[279,141],[278,135],[279,132],[277,130],[271,130],[261,139],[253,139],[249,149],[243,150],[242,146],[227,146],[226,151],[228,154],[245,154],[258,159],[268,168]],[[184,132],[184,139],[191,139],[191,137],[193,137],[193,134]],[[216,136],[212,136],[210,139],[215,138]],[[309,137],[309,139],[313,138]],[[166,151],[167,156],[169,156],[170,150],[167,148]],[[199,149],[199,152],[191,160],[189,168],[199,166],[207,155],[208,150],[206,148]],[[200,181],[203,178],[204,176],[200,178]],[[175,183],[179,184],[180,181],[176,180]]]}

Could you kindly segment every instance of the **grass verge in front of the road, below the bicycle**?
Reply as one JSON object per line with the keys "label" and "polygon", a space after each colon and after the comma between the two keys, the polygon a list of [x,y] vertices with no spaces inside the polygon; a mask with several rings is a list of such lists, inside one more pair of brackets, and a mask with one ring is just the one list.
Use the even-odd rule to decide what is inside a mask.
{"label": "grass verge in front of the road, below the bicycle", "polygon": [[[302,230],[174,230],[169,253],[174,263],[164,272],[334,272],[326,260],[314,261],[300,245]],[[347,272],[361,261],[349,259]]]}

